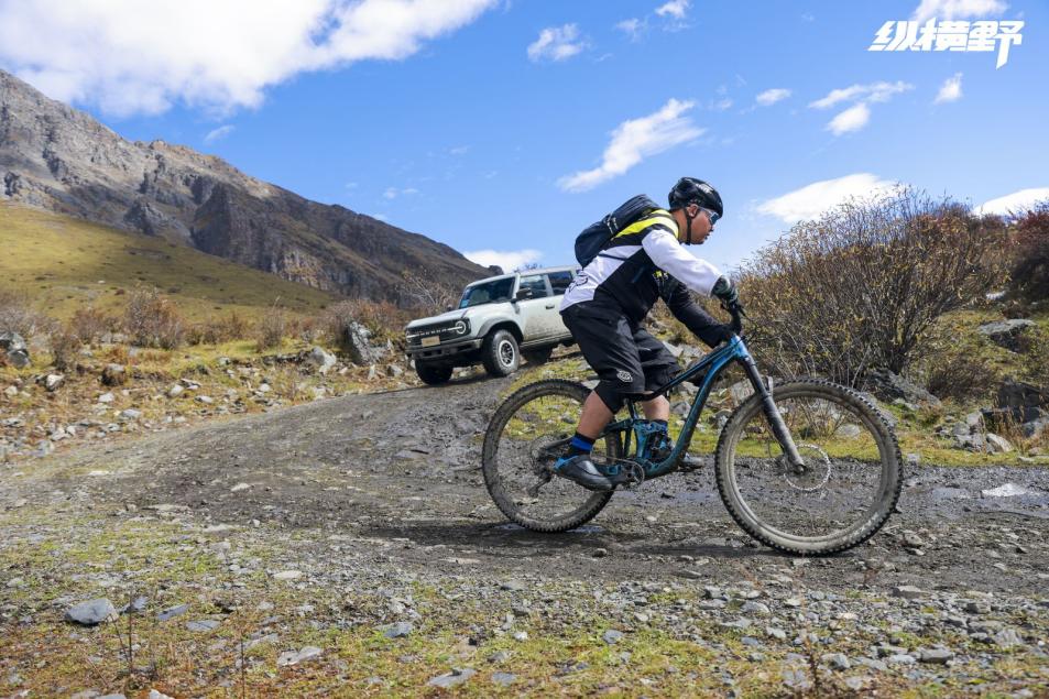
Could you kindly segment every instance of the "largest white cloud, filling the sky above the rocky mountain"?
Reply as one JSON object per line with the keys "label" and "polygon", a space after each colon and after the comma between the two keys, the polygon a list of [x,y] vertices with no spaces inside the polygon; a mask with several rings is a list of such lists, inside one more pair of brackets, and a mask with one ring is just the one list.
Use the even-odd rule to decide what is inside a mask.
{"label": "largest white cloud, filling the sky above the rocky mountain", "polygon": [[499,0],[0,2],[0,66],[116,116],[258,107],[295,75],[403,59]]}

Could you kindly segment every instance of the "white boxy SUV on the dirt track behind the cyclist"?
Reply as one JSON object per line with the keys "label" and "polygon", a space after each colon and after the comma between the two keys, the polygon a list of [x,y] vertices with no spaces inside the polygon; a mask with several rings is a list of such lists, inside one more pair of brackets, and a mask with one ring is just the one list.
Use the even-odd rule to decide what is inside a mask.
{"label": "white boxy SUV on the dirt track behind the cyclist", "polygon": [[445,383],[454,368],[479,363],[505,376],[517,370],[521,354],[544,362],[558,345],[571,345],[558,309],[576,272],[546,267],[480,280],[462,291],[458,308],[409,323],[407,353],[419,379]]}

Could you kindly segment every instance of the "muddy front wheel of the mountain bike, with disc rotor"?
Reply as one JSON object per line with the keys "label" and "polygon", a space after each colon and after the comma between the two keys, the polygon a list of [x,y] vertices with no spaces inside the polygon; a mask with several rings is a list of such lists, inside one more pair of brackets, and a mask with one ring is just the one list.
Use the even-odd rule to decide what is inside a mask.
{"label": "muddy front wheel of the mountain bike, with disc rotor", "polygon": [[873,536],[903,484],[899,446],[877,407],[826,381],[776,386],[776,407],[805,468],[785,457],[761,396],[729,418],[717,452],[718,490],[751,536],[783,551],[823,556]]}

